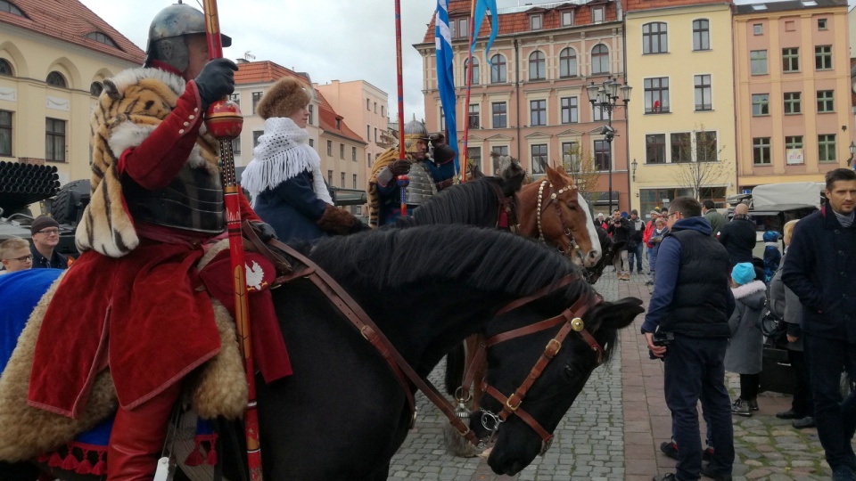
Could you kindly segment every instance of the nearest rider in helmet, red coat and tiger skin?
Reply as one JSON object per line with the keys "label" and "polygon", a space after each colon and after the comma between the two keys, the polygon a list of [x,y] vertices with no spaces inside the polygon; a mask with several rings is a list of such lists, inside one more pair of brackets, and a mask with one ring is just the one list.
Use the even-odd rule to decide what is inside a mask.
{"label": "nearest rider in helmet, red coat and tiger skin", "polygon": [[[82,254],[48,306],[28,396],[76,419],[110,369],[119,398],[110,481],[152,479],[181,380],[221,350],[195,267],[226,230],[218,146],[202,117],[234,91],[237,66],[208,60],[205,16],[181,3],[152,20],[146,53],[144,68],[104,81],[95,107]],[[240,197],[242,219],[270,235]]]}

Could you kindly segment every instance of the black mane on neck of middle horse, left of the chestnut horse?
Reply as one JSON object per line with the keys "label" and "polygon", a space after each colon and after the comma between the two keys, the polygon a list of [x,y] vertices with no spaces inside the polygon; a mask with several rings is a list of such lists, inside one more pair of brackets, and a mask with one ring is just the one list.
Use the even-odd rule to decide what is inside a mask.
{"label": "black mane on neck of middle horse, left of the chestnut horse", "polygon": [[[481,177],[440,191],[391,228],[424,224],[471,224],[493,227],[497,222],[497,177]],[[467,206],[461,208],[461,206]]]}

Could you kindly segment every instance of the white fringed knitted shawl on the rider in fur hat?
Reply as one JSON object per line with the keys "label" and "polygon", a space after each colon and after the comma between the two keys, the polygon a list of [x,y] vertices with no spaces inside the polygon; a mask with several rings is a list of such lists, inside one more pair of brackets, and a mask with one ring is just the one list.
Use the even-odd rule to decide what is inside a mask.
{"label": "white fringed knitted shawl on the rider in fur hat", "polygon": [[253,198],[273,189],[301,172],[312,174],[312,190],[318,199],[333,204],[321,174],[318,152],[309,146],[309,132],[291,118],[274,117],[265,120],[265,134],[252,150],[253,159],[241,175],[241,185]]}

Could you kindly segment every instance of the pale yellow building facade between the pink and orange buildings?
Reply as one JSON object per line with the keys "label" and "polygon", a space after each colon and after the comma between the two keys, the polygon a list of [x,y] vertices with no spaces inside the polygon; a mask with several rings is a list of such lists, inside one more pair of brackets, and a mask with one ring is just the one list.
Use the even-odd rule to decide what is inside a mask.
{"label": "pale yellow building facade between the pink and orange buildings", "polygon": [[724,205],[737,192],[731,3],[631,0],[625,21],[632,208]]}

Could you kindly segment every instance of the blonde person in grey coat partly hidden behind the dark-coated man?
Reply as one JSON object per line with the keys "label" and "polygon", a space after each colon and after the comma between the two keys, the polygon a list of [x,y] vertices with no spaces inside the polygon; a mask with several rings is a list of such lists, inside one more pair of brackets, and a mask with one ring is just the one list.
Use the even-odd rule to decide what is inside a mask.
{"label": "blonde person in grey coat partly hidden behind the dark-coated man", "polygon": [[[796,221],[785,224],[785,256],[787,246],[791,242],[791,234],[794,232]],[[805,355],[802,354],[802,304],[800,298],[794,291],[788,289],[782,282],[782,269],[785,266],[785,257],[779,263],[779,268],[770,280],[770,312],[785,320],[787,325],[787,361],[794,366],[797,375],[796,387],[794,388],[794,400],[791,409],[786,412],[777,412],[776,417],[780,420],[794,420],[791,424],[794,428],[814,428],[814,402],[811,399],[811,386],[809,384],[809,366]]]}

